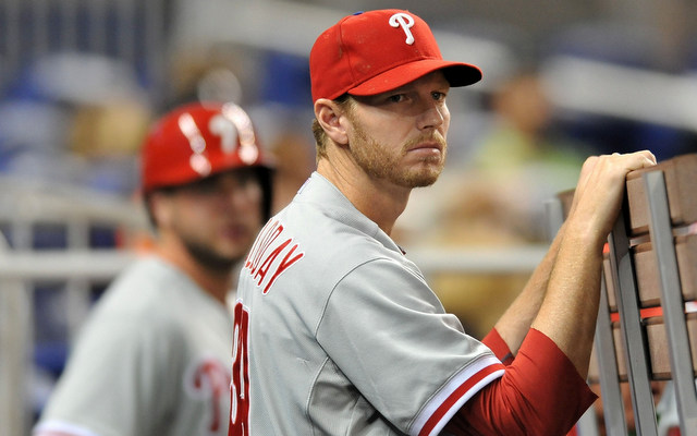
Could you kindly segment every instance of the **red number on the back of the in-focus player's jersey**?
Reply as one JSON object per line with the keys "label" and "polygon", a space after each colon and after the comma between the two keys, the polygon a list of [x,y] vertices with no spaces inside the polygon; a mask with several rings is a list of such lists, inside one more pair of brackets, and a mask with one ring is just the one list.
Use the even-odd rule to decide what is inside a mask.
{"label": "red number on the back of the in-focus player's jersey", "polygon": [[234,310],[232,339],[232,383],[230,384],[230,431],[228,436],[249,434],[249,358],[247,355],[247,332],[249,312],[241,301]]}

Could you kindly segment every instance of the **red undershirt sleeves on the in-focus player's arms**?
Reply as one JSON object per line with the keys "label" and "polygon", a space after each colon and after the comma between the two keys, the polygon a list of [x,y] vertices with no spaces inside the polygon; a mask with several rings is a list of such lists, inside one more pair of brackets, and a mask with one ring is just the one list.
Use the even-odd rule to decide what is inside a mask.
{"label": "red undershirt sleeves on the in-focus player's arms", "polygon": [[[482,342],[497,356],[510,353],[496,330]],[[561,436],[596,398],[559,347],[530,329],[504,375],[467,401],[444,429],[453,435]]]}

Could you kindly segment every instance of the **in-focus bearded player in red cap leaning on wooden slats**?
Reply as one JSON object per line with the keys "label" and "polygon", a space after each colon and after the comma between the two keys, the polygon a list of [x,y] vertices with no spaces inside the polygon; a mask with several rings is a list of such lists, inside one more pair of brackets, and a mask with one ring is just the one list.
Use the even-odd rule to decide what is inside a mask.
{"label": "in-focus bearded player in red cap leaning on wooden slats", "polygon": [[[648,152],[584,164],[564,228],[482,341],[443,311],[390,238],[443,167],[452,87],[408,11],[342,19],[310,51],[317,171],[264,227],[240,275],[230,435],[563,435],[585,383],[603,242]],[[428,205],[424,205],[428,207]]]}

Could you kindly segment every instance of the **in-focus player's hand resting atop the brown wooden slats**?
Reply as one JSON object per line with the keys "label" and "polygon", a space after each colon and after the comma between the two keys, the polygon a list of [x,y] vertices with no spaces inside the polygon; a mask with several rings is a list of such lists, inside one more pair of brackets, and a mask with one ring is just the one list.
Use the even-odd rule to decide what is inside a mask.
{"label": "in-focus player's hand resting atop the brown wooden slats", "polygon": [[629,171],[656,165],[651,152],[592,156],[584,162],[568,214],[575,231],[604,243],[620,211]]}

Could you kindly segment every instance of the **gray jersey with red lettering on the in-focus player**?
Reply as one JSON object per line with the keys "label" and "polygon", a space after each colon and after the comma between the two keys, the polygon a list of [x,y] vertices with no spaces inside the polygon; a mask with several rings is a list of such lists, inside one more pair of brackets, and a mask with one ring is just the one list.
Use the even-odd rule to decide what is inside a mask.
{"label": "gray jersey with red lettering on the in-focus player", "polygon": [[237,296],[231,435],[438,434],[503,374],[318,173],[259,233]]}

